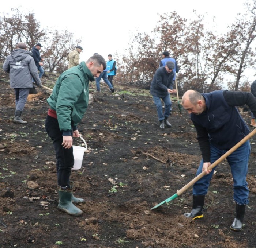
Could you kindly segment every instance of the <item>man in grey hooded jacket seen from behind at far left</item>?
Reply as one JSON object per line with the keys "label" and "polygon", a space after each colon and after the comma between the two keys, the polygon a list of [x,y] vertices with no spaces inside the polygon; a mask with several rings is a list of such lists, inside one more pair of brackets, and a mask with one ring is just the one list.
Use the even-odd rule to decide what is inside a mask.
{"label": "man in grey hooded jacket seen from behind at far left", "polygon": [[33,87],[32,78],[38,87],[42,87],[35,61],[31,57],[32,53],[26,49],[26,44],[19,42],[17,49],[7,56],[3,65],[3,69],[10,74],[10,86],[15,91],[16,108],[13,122],[21,124],[27,123],[22,120],[22,112],[29,95],[29,88]]}

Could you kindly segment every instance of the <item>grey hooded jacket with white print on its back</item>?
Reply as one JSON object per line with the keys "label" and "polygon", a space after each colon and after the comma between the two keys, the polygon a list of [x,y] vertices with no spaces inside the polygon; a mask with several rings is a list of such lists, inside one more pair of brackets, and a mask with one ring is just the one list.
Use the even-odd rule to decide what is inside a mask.
{"label": "grey hooded jacket with white print on its back", "polygon": [[32,77],[37,85],[41,80],[37,73],[32,53],[24,49],[15,49],[4,61],[3,69],[10,73],[11,88],[32,88]]}

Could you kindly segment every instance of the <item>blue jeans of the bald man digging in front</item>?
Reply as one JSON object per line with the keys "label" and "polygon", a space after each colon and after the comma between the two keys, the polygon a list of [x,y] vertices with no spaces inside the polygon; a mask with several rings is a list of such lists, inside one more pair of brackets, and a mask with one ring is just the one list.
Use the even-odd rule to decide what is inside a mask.
{"label": "blue jeans of the bald man digging in front", "polygon": [[[220,158],[227,150],[219,150],[218,148],[210,145],[211,151],[211,163],[214,163],[218,158]],[[233,176],[233,191],[234,191],[234,201],[240,205],[248,204],[248,183],[246,182],[246,175],[248,171],[248,161],[250,156],[250,143],[245,142],[242,146],[237,148],[232,154],[227,157],[227,162],[231,168],[231,173]],[[202,172],[203,160],[201,160],[200,166],[197,170],[196,175]],[[210,174],[204,175],[193,186],[193,195],[206,195],[210,180],[214,173],[216,167],[214,167]]]}

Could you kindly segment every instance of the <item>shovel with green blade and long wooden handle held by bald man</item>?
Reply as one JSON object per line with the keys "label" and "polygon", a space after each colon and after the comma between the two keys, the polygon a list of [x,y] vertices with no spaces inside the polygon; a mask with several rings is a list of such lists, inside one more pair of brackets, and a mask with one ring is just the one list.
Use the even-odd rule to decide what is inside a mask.
{"label": "shovel with green blade and long wooden handle held by bald man", "polygon": [[[234,145],[232,148],[230,148],[230,150],[228,150],[225,154],[223,154],[220,158],[218,158],[214,163],[212,163],[209,167],[208,170],[211,170],[212,168],[214,168],[215,166],[217,166],[220,162],[222,162],[225,158],[227,158],[227,156],[229,156],[232,152],[234,152],[235,150],[237,150],[238,147],[242,146],[242,144],[244,144],[247,140],[249,140],[253,135],[255,135],[256,133],[256,128],[253,129],[252,132],[250,132],[248,135],[246,135],[244,137],[244,139],[240,140],[240,142],[238,142],[236,145]],[[150,210],[156,209],[159,206],[163,205],[164,203],[170,202],[172,200],[174,200],[175,198],[177,198],[179,195],[181,195],[184,191],[186,191],[190,186],[192,186],[196,181],[198,181],[200,178],[202,178],[205,175],[205,171],[202,171],[199,175],[197,175],[194,179],[192,179],[189,183],[187,183],[183,188],[181,188],[180,190],[177,191],[176,194],[172,195],[171,197],[169,197],[168,199],[166,199],[165,201],[160,202],[158,205],[154,206],[153,208],[151,208]]]}

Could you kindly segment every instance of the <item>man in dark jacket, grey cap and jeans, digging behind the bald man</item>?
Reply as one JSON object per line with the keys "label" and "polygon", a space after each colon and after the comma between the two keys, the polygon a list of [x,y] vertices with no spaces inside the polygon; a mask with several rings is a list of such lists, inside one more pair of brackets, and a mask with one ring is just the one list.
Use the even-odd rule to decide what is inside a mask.
{"label": "man in dark jacket, grey cap and jeans, digging behind the bald man", "polygon": [[[150,94],[153,97],[154,104],[157,106],[157,115],[161,129],[164,129],[165,125],[167,127],[172,127],[167,118],[170,115],[170,109],[172,106],[170,93],[176,92],[176,90],[172,89],[174,66],[175,65],[172,61],[168,61],[165,66],[159,67],[156,70],[150,85]],[[165,103],[164,113],[161,99]]]}

